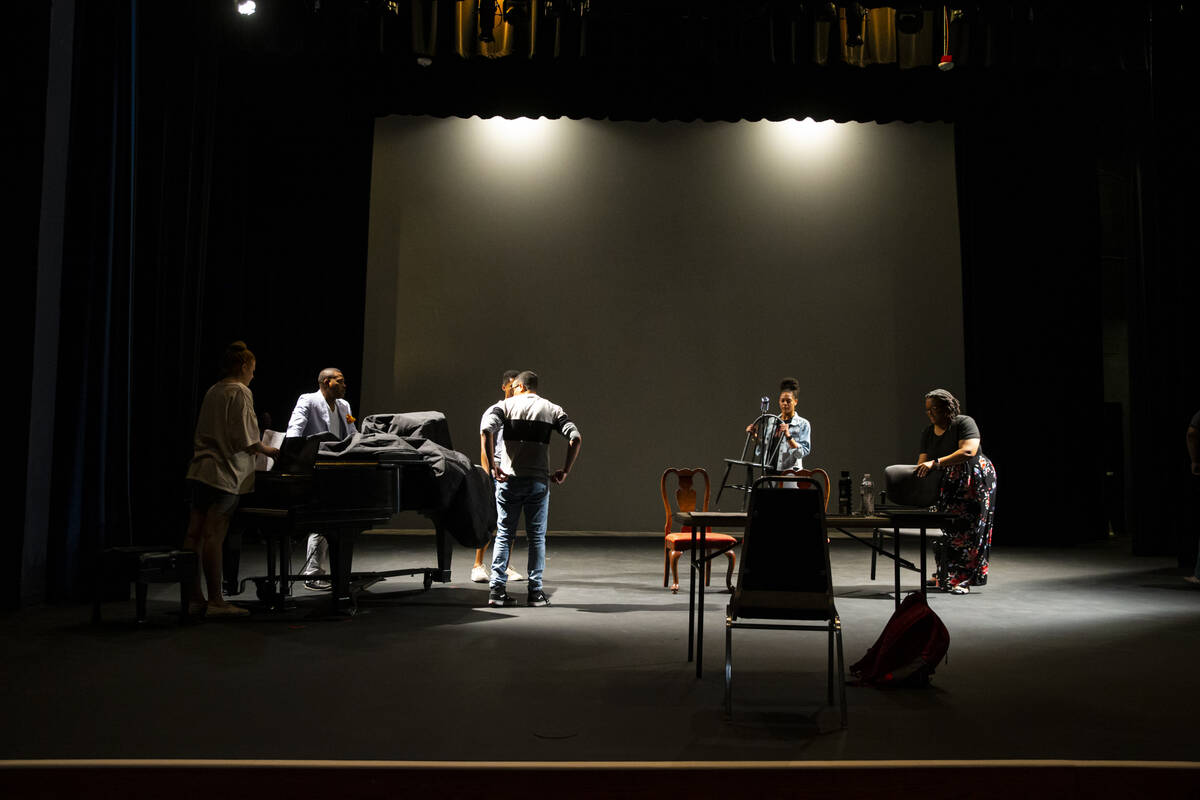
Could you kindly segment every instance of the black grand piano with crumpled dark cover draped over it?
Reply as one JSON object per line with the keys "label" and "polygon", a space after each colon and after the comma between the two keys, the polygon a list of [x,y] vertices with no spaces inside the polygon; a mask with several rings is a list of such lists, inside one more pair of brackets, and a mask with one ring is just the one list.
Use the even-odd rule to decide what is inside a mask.
{"label": "black grand piano with crumpled dark cover draped over it", "polygon": [[[329,541],[330,599],[337,613],[355,609],[358,589],[396,576],[424,576],[424,588],[450,581],[454,545],[482,547],[496,528],[491,477],[450,450],[445,417],[437,411],[366,417],[362,433],[337,443],[328,434],[286,439],[276,469],[256,476],[230,525],[226,591],[253,583],[268,607],[289,603],[292,542],[317,533]],[[354,545],[365,530],[388,524],[400,511],[418,511],[434,524],[436,566],[355,572]],[[239,579],[245,537],[266,543],[266,575]]]}

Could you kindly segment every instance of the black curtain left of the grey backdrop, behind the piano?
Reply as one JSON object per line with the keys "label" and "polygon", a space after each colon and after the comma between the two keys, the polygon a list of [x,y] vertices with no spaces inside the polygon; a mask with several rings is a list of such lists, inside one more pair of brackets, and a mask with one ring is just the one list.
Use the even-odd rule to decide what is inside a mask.
{"label": "black curtain left of the grey backdrop, behind the piano", "polygon": [[22,543],[47,600],[86,596],[102,547],[181,541],[228,342],[275,427],[318,369],[361,366],[373,119],[343,72],[246,59],[229,17],[77,10],[49,524]]}

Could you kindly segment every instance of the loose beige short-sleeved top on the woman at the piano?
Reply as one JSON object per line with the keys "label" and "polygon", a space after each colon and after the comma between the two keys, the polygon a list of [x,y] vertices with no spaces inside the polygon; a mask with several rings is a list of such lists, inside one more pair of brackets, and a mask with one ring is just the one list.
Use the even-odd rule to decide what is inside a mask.
{"label": "loose beige short-sleeved top on the woman at the piano", "polygon": [[187,477],[229,494],[253,492],[254,453],[246,447],[258,440],[250,387],[235,380],[212,384],[200,404]]}

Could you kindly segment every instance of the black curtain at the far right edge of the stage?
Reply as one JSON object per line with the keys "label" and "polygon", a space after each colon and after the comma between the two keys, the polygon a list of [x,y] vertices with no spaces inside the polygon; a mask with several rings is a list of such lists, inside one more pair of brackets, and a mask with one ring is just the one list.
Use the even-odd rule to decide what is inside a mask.
{"label": "black curtain at the far right edge of the stage", "polygon": [[1188,420],[1200,409],[1200,112],[1187,98],[1200,13],[1188,6],[1180,19],[1174,4],[1156,4],[1156,12],[1153,91],[1135,142],[1142,249],[1127,284],[1132,528],[1134,553],[1170,553],[1190,571],[1200,540],[1200,479],[1189,474],[1184,447]]}

